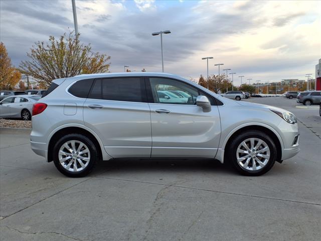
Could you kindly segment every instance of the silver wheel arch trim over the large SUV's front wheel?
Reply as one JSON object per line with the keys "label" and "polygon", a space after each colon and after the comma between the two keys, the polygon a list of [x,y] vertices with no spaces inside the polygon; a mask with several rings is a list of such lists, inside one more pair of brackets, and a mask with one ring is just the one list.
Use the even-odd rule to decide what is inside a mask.
{"label": "silver wheel arch trim over the large SUV's front wheel", "polygon": [[267,134],[269,137],[272,138],[274,141],[276,148],[277,148],[277,157],[276,161],[280,161],[282,158],[282,150],[284,149],[284,144],[283,141],[280,137],[280,135],[270,126],[262,124],[262,123],[248,123],[247,125],[241,125],[235,129],[233,129],[229,135],[225,138],[223,144],[222,144],[222,149],[221,149],[221,155],[217,157],[221,163],[224,163],[224,158],[225,158],[225,149],[228,147],[228,145],[231,143],[233,140],[233,137],[236,135],[240,134],[241,132],[247,131],[247,130],[257,130],[261,131],[265,134]]}

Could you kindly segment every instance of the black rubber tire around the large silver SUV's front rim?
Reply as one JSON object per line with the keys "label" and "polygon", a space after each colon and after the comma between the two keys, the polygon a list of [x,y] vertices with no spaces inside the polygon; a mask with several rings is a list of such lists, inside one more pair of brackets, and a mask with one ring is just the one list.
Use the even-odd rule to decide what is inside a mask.
{"label": "black rubber tire around the large silver SUV's front rim", "polygon": [[[236,152],[237,152],[237,148],[238,146],[246,139],[249,138],[258,138],[261,139],[262,141],[264,141],[269,149],[270,149],[270,158],[267,162],[267,164],[256,171],[250,171],[250,170],[245,170],[243,169],[237,161],[237,157],[236,157]],[[228,163],[229,166],[231,166],[234,170],[236,170],[237,172],[239,172],[242,175],[245,176],[260,176],[266,172],[268,172],[274,165],[275,160],[276,160],[276,146],[273,142],[273,140],[266,135],[265,133],[261,132],[261,131],[245,131],[239,135],[237,135],[232,142],[229,144],[229,146],[226,149],[226,162]]]}

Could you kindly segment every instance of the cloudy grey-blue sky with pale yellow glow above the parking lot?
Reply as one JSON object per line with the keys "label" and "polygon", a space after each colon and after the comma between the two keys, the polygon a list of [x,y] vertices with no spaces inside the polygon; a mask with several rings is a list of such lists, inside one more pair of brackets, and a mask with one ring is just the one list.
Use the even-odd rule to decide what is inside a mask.
{"label": "cloudy grey-blue sky with pale yellow glow above the parking lot", "polygon": [[[186,78],[230,68],[252,81],[314,77],[321,58],[321,1],[79,1],[81,40],[111,56],[110,71],[165,72]],[[13,63],[27,59],[36,41],[73,30],[71,0],[1,1],[0,40]]]}

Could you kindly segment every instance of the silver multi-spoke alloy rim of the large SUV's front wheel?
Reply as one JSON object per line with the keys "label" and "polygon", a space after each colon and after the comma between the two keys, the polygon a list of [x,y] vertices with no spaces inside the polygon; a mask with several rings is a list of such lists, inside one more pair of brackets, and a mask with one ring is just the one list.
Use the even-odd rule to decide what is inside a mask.
{"label": "silver multi-spoke alloy rim of the large SUV's front wheel", "polygon": [[270,160],[268,145],[259,138],[248,138],[241,142],[236,151],[239,166],[246,171],[264,168]]}

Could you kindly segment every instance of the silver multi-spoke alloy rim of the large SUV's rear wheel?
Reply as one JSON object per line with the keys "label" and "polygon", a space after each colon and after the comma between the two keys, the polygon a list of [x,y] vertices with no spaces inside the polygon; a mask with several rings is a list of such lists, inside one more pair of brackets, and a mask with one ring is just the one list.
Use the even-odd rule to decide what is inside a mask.
{"label": "silver multi-spoke alloy rim of the large SUV's rear wheel", "polygon": [[59,149],[59,162],[70,172],[84,170],[90,161],[90,151],[81,141],[71,140],[64,143]]}

